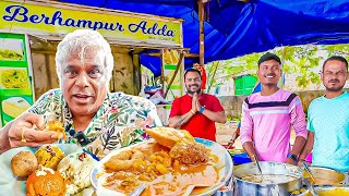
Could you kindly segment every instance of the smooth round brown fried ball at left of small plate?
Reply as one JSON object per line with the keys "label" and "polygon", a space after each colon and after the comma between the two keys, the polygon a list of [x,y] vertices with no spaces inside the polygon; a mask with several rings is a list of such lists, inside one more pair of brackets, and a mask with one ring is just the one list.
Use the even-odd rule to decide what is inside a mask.
{"label": "smooth round brown fried ball at left of small plate", "polygon": [[37,159],[32,151],[24,150],[17,152],[11,160],[13,174],[26,177],[37,169]]}

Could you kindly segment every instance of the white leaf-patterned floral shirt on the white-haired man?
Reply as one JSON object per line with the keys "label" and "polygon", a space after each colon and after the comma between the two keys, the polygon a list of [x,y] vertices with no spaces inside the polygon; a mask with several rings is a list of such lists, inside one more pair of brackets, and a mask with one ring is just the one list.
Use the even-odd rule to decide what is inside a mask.
{"label": "white leaf-patterned floral shirt on the white-haired man", "polygon": [[[68,137],[59,143],[81,145],[76,137],[79,132],[73,130],[73,115],[60,89],[44,94],[28,112],[41,114],[45,122],[56,117],[63,122]],[[123,93],[108,93],[87,128],[80,133],[87,139],[85,149],[103,158],[110,150],[147,139],[144,128],[160,125],[156,108],[149,100]]]}

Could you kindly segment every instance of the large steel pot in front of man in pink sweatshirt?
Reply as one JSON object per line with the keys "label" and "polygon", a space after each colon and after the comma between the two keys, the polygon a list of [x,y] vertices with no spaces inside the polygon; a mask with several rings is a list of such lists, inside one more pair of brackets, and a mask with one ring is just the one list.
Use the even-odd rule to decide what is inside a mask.
{"label": "large steel pot in front of man in pink sweatshirt", "polygon": [[292,180],[282,183],[255,183],[243,180],[245,176],[258,175],[258,169],[254,162],[240,164],[233,169],[233,195],[290,195],[290,192],[302,187],[302,169],[299,167],[280,162],[261,162],[264,175],[291,176]]}

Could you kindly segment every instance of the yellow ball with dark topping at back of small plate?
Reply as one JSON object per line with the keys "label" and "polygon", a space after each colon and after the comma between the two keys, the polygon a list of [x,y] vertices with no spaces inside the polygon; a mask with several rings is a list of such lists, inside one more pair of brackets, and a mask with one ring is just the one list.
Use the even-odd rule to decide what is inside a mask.
{"label": "yellow ball with dark topping at back of small plate", "polygon": [[64,152],[57,146],[43,146],[36,152],[35,157],[38,160],[38,163],[56,170],[58,163],[65,157]]}

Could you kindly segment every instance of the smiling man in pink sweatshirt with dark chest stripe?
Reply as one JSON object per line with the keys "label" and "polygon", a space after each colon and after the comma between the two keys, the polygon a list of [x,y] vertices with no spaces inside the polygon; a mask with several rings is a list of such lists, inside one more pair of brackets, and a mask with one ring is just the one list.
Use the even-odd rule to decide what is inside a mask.
{"label": "smiling man in pink sweatshirt with dark chest stripe", "polygon": [[[240,138],[252,160],[298,163],[308,136],[301,100],[290,91],[279,89],[281,61],[274,53],[258,60],[262,91],[249,96],[242,106]],[[290,147],[291,125],[296,132]]]}

